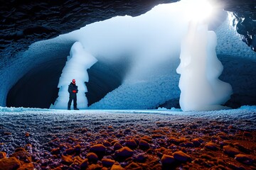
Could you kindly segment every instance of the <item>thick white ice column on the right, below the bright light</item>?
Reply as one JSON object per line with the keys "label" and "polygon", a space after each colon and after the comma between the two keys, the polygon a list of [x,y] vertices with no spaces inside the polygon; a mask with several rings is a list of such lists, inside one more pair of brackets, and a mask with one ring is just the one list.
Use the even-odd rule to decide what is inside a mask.
{"label": "thick white ice column on the right, below the bright light", "polygon": [[177,68],[181,74],[180,106],[183,111],[212,111],[230,98],[232,87],[220,81],[223,65],[217,58],[217,38],[205,24],[191,22],[188,33],[181,42],[181,63]]}

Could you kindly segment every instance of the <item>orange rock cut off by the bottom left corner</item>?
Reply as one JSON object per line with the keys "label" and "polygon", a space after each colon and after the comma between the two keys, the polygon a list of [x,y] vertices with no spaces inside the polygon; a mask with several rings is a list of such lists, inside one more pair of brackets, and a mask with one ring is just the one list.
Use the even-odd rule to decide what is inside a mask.
{"label": "orange rock cut off by the bottom left corner", "polygon": [[21,162],[16,157],[0,159],[1,170],[18,169],[21,166]]}

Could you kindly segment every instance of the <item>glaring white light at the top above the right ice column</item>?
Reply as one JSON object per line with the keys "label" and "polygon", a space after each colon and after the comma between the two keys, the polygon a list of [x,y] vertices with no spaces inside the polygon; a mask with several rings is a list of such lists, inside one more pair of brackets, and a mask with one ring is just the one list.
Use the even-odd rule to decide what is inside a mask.
{"label": "glaring white light at the top above the right ice column", "polygon": [[213,5],[208,0],[183,0],[186,15],[193,21],[204,21],[213,15]]}

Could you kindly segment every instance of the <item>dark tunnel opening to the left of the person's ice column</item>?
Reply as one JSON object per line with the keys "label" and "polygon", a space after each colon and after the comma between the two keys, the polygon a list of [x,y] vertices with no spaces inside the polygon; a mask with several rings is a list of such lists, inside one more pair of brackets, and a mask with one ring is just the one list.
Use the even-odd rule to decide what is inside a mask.
{"label": "dark tunnel opening to the left of the person's ice column", "polygon": [[49,108],[58,97],[58,80],[66,58],[44,62],[31,69],[9,91],[7,107]]}

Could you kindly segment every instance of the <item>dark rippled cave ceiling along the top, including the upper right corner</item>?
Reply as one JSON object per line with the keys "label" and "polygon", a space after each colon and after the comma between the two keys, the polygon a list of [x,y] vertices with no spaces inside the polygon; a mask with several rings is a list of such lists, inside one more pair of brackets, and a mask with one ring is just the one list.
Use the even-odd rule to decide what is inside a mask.
{"label": "dark rippled cave ceiling along the top, including the upper right corner", "polygon": [[[139,16],[157,4],[178,0],[1,0],[0,57],[11,57],[39,40],[78,30],[114,16]],[[238,33],[256,51],[256,1],[213,0],[234,13]]]}

